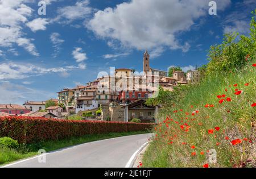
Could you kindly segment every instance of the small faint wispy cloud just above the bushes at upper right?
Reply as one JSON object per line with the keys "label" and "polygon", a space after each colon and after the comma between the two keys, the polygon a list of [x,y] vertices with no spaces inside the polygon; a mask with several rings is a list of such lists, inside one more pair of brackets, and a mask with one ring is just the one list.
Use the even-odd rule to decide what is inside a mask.
{"label": "small faint wispy cloud just above the bushes at upper right", "polygon": [[245,20],[237,20],[232,22],[232,26],[225,26],[224,33],[229,34],[232,32],[239,32],[240,34],[249,34],[250,25]]}

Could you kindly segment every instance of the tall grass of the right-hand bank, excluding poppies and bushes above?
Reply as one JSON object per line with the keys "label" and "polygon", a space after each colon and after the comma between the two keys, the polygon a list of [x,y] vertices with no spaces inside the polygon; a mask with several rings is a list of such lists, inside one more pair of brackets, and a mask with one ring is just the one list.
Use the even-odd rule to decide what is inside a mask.
{"label": "tall grass of the right-hand bank, excluding poppies and bushes above", "polygon": [[[170,119],[173,120],[166,120],[162,126],[156,128],[157,136],[146,151],[143,166],[202,167],[208,163],[209,167],[232,167],[252,159],[253,151],[255,157],[255,128],[251,124],[255,123],[255,107],[251,104],[255,102],[256,96],[256,68],[251,64],[249,63],[241,72],[212,77],[194,86],[174,108],[162,110],[161,119],[171,115]],[[249,86],[245,86],[246,83],[249,83]],[[234,84],[237,84],[237,87],[234,87]],[[236,88],[242,90],[241,95],[234,94]],[[225,89],[228,91],[226,92]],[[220,99],[216,96],[222,94],[232,98],[232,102],[218,103]],[[214,107],[206,108],[207,103],[213,104]],[[180,109],[183,111],[181,112]],[[178,110],[178,113],[173,113],[174,110]],[[195,110],[199,110],[199,113],[192,115]],[[179,124],[174,123],[174,120]],[[188,132],[180,128],[184,123],[191,126]],[[199,125],[200,123],[202,125]],[[220,131],[214,130],[214,127],[220,127]],[[208,134],[209,129],[213,129],[214,133]],[[229,140],[225,139],[226,136]],[[169,140],[171,137],[173,139]],[[234,139],[243,138],[252,140],[252,143],[245,140],[237,145],[230,143]],[[171,144],[170,141],[173,143]],[[182,144],[183,142],[187,144]],[[192,145],[195,145],[195,149],[191,148]],[[209,149],[217,151],[216,164],[210,164],[207,160]],[[204,155],[200,155],[201,151]],[[196,152],[196,156],[192,156],[192,152]],[[255,167],[255,163],[246,164],[246,166],[252,165]]]}

